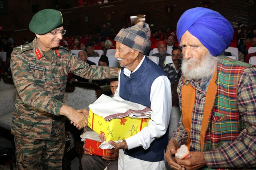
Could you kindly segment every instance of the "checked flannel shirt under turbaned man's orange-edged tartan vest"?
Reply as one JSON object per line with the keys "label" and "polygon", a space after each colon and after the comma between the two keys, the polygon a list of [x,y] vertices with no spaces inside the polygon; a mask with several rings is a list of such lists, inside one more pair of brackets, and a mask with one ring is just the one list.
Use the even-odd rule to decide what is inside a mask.
{"label": "checked flannel shirt under turbaned man's orange-edged tartan vest", "polygon": [[[221,74],[219,70],[227,70],[227,65],[223,65],[224,62],[228,62],[228,64],[230,64],[228,65],[228,69],[235,69],[234,65],[244,65],[245,67],[249,66],[246,66],[245,63],[234,61],[226,57],[220,58],[217,70],[217,79],[220,82],[222,80],[220,80]],[[192,80],[184,83],[181,79],[177,89],[180,108],[182,108],[181,87],[188,83],[190,83],[196,89],[196,99],[193,108],[191,125],[191,144],[189,150],[201,151],[200,132],[202,127],[206,90],[201,88],[201,82],[194,82]],[[212,126],[207,129],[208,132],[210,131],[209,133],[211,133],[211,135],[214,133],[215,134],[213,136],[205,137],[204,148],[205,145],[212,145],[211,142],[214,141],[214,138],[223,138],[225,141],[230,140],[229,142],[218,144],[220,146],[216,147],[212,145],[212,148],[208,147],[208,149],[203,149],[208,169],[221,167],[232,169],[252,166],[256,167],[256,68],[245,68],[241,72],[240,76],[238,75],[238,84],[234,88],[237,92],[235,95],[237,97],[237,108],[240,115],[240,119],[238,119],[235,123],[239,125],[242,124],[241,131],[239,131],[238,135],[232,134],[232,128],[234,127],[227,127],[226,124],[221,124],[221,120],[219,128],[224,128],[220,130],[224,131],[225,129],[229,129],[229,133],[225,136],[220,136],[223,132],[216,134],[216,131],[211,129]],[[219,91],[218,93],[221,92]],[[216,103],[214,107],[216,107]],[[212,122],[212,119],[213,116],[210,115],[209,122]],[[232,124],[234,122],[229,123]],[[179,120],[178,128],[174,131],[172,139],[177,141],[179,145],[185,144],[186,140],[188,139],[188,133],[182,124],[182,115],[181,119]]]}

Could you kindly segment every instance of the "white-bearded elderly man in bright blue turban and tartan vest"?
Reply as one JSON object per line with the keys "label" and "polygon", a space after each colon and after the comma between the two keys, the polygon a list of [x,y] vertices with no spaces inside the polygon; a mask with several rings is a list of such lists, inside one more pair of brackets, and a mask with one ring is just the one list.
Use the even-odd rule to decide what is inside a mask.
{"label": "white-bearded elderly man in bright blue turban and tartan vest", "polygon": [[[166,151],[174,170],[256,167],[256,68],[220,55],[233,33],[227,19],[207,8],[189,9],[178,21],[181,119]],[[174,156],[183,144],[188,159]]]}

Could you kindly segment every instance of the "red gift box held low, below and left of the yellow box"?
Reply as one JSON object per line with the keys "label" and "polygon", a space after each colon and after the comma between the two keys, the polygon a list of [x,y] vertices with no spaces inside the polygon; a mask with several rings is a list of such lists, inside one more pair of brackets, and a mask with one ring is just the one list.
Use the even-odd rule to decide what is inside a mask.
{"label": "red gift box held low, below and left of the yellow box", "polygon": [[91,139],[85,139],[85,148],[89,149],[89,152],[92,153],[93,155],[99,155],[99,156],[104,156],[104,155],[112,155],[113,153],[109,153],[110,149],[101,149],[100,144],[102,142],[91,140]]}

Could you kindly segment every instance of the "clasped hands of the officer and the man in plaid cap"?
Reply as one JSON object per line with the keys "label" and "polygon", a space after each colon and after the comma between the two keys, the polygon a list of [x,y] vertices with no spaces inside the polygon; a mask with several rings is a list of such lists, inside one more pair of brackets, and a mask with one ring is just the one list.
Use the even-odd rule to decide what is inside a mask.
{"label": "clasped hands of the officer and the man in plaid cap", "polygon": [[59,115],[67,116],[70,119],[70,123],[77,127],[77,129],[82,129],[88,124],[89,111],[86,109],[75,110],[67,105],[62,105],[60,108]]}

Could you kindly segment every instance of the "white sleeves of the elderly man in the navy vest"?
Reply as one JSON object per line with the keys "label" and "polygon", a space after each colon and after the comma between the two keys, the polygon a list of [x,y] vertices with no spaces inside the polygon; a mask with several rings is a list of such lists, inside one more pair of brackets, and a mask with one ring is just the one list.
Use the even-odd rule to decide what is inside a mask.
{"label": "white sleeves of the elderly man in the navy vest", "polygon": [[[119,95],[119,84],[115,95]],[[166,133],[171,113],[171,83],[166,76],[159,76],[154,80],[150,90],[152,114],[149,126],[144,127],[137,134],[125,139],[128,149],[142,146],[150,147],[155,138],[160,138]]]}

